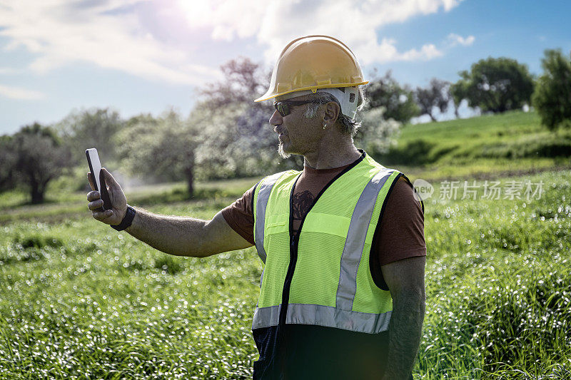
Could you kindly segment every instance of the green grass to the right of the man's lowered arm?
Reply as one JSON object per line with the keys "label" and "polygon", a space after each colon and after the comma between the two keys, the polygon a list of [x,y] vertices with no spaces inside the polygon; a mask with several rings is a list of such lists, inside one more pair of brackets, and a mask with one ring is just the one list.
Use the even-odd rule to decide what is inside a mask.
{"label": "green grass to the right of the man's lowered arm", "polygon": [[530,179],[540,200],[425,203],[420,378],[571,377],[571,175]]}

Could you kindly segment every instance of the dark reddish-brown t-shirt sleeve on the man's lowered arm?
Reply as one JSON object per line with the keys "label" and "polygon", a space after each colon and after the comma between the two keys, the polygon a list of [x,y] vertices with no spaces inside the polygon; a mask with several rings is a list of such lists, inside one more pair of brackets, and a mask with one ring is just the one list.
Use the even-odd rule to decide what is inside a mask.
{"label": "dark reddish-brown t-shirt sleeve on the man's lowered arm", "polygon": [[413,186],[403,176],[388,195],[380,228],[375,230],[373,255],[378,265],[425,256],[424,212]]}

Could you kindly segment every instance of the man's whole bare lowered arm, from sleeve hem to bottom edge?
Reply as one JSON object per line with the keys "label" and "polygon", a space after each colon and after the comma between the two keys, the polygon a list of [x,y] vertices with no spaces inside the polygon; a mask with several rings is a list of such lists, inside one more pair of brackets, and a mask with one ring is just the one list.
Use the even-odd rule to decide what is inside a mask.
{"label": "man's whole bare lowered arm, from sleeve hem to bottom edge", "polygon": [[385,380],[408,380],[413,371],[425,313],[425,263],[426,257],[419,256],[381,267],[393,297]]}

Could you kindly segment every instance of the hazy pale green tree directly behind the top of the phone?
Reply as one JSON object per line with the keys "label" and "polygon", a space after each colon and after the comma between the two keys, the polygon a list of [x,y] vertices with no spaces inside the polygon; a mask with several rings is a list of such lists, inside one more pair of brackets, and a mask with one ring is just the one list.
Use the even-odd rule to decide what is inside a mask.
{"label": "hazy pale green tree directly behind the top of the phone", "polygon": [[83,162],[88,148],[97,148],[101,160],[107,163],[115,159],[115,135],[122,127],[118,112],[109,108],[72,112],[56,125],[76,163]]}

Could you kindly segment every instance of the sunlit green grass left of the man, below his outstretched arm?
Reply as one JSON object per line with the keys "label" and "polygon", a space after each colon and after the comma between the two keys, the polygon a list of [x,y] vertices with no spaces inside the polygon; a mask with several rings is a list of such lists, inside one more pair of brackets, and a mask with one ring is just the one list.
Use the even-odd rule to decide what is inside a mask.
{"label": "sunlit green grass left of the man, below his outstretched arm", "polygon": [[251,373],[253,252],[170,257],[89,218],[3,232],[0,378]]}

